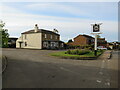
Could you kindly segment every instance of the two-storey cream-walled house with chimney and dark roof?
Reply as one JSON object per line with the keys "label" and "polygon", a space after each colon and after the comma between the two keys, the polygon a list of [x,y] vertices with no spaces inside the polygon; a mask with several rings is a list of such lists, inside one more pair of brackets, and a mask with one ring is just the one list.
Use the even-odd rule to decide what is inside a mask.
{"label": "two-storey cream-walled house with chimney and dark roof", "polygon": [[60,34],[56,30],[39,29],[37,24],[34,30],[23,32],[16,41],[16,48],[31,49],[61,49],[64,42],[60,41]]}

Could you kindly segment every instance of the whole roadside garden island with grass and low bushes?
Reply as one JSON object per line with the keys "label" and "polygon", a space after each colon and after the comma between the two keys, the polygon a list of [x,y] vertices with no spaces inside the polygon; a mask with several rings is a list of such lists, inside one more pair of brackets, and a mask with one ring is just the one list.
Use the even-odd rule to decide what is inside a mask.
{"label": "whole roadside garden island with grass and low bushes", "polygon": [[94,55],[93,50],[86,50],[86,49],[73,49],[73,50],[67,50],[67,51],[59,51],[56,53],[52,53],[50,55],[65,58],[65,59],[96,59],[104,51],[105,50],[98,50],[97,56]]}

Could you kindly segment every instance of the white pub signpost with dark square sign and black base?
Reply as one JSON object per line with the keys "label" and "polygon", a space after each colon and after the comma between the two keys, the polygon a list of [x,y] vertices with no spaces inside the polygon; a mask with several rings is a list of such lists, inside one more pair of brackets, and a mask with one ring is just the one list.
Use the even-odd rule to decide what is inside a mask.
{"label": "white pub signpost with dark square sign and black base", "polygon": [[98,35],[98,34],[102,34],[102,33],[100,32],[100,25],[101,25],[101,24],[102,24],[102,23],[91,24],[92,27],[93,27],[93,30],[92,30],[92,33],[91,33],[91,34],[95,35],[95,46],[94,46],[94,50],[95,50],[94,55],[95,55],[95,56],[97,56],[97,35]]}

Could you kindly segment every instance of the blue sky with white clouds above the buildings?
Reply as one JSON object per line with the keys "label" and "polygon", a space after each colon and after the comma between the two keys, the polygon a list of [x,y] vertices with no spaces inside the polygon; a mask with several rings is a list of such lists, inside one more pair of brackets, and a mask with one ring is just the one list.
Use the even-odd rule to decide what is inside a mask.
{"label": "blue sky with white clouds above the buildings", "polygon": [[117,2],[2,2],[0,19],[6,23],[10,37],[34,29],[56,28],[61,41],[79,34],[91,35],[92,23],[103,23],[100,35],[107,41],[118,41]]}

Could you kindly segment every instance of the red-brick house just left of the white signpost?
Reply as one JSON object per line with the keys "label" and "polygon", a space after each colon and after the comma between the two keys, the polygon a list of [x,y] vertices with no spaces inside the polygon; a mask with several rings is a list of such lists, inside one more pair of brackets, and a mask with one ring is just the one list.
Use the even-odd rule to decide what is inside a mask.
{"label": "red-brick house just left of the white signpost", "polygon": [[78,35],[74,38],[73,42],[69,42],[68,45],[72,46],[80,46],[80,45],[93,45],[94,44],[94,38],[89,35]]}

